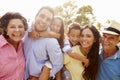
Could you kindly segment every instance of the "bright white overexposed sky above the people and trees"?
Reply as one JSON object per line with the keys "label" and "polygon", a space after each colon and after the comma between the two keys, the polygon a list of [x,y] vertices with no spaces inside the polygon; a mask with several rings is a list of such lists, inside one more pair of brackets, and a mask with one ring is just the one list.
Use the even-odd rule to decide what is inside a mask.
{"label": "bright white overexposed sky above the people and trees", "polygon": [[[20,12],[31,21],[42,6],[55,7],[69,0],[0,0],[0,16],[8,11]],[[73,1],[73,0],[72,0]],[[120,22],[119,0],[74,0],[78,6],[90,5],[97,21],[108,19]]]}

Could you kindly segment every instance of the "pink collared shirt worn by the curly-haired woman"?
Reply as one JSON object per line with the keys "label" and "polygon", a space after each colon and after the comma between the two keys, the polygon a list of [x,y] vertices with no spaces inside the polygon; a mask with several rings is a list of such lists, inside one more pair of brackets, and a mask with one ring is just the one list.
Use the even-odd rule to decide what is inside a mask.
{"label": "pink collared shirt worn by the curly-haired woman", "polygon": [[18,50],[0,35],[0,80],[23,80],[25,58],[22,41]]}

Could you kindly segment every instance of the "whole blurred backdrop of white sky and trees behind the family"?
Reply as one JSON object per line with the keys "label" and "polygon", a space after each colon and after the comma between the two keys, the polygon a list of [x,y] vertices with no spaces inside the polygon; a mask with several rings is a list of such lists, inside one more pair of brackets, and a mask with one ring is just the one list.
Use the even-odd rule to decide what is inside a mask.
{"label": "whole blurred backdrop of white sky and trees behind the family", "polygon": [[119,0],[0,0],[0,16],[8,11],[20,12],[31,25],[42,6],[52,7],[64,19],[65,29],[74,21],[81,26],[93,24],[98,30],[110,20],[120,21]]}

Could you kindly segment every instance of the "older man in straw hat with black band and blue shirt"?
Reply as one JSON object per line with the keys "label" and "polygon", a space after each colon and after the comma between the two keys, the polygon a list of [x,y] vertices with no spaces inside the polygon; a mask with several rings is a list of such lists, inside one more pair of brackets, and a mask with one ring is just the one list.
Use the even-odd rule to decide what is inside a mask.
{"label": "older man in straw hat with black band and blue shirt", "polygon": [[111,21],[103,31],[97,80],[120,80],[120,23]]}

